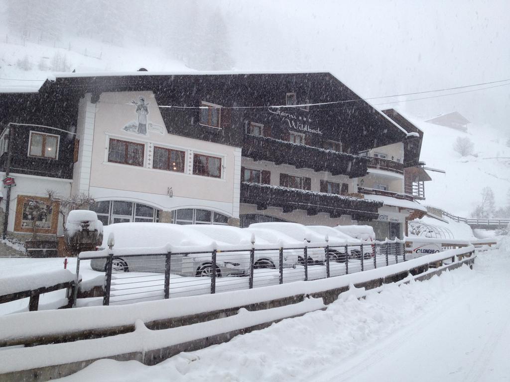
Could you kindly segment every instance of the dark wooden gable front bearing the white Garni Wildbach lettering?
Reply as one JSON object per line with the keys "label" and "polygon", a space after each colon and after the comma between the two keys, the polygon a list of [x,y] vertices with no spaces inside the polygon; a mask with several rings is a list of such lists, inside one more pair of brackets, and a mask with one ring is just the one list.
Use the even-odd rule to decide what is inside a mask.
{"label": "dark wooden gable front bearing the white Garni Wildbach lettering", "polygon": [[[40,89],[40,93],[71,99],[92,93],[95,100],[102,92],[116,91],[152,91],[160,106],[173,106],[160,109],[169,132],[235,146],[242,142],[241,124],[244,119],[270,115],[267,108],[284,105],[287,92],[296,92],[298,102],[308,99],[316,104],[307,113],[323,131],[321,138],[341,141],[351,153],[402,142],[406,135],[326,72],[75,75],[57,77],[54,82],[46,81]],[[225,108],[232,107],[232,128],[212,133],[189,123],[198,119],[196,106],[200,99]],[[185,129],[183,122],[187,122]]]}

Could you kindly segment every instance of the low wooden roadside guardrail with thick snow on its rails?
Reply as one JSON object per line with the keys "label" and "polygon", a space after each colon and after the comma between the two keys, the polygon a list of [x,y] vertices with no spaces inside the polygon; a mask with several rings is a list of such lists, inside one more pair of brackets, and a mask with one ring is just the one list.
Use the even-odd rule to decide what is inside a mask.
{"label": "low wooden roadside guardrail with thick snow on its rails", "polygon": [[[226,342],[234,335],[265,328],[283,318],[324,309],[351,285],[373,289],[383,283],[427,278],[445,269],[472,264],[473,255],[474,247],[470,245],[343,277],[296,282],[283,287],[268,286],[258,290],[137,305],[41,311],[0,317],[0,343],[3,346],[27,343],[23,341],[37,344],[38,340],[47,341],[48,336],[59,333],[64,336],[64,341],[75,341],[45,342],[47,345],[3,350],[5,362],[0,363],[0,380],[48,380],[69,375],[100,358],[136,359],[145,365],[154,365],[181,351]],[[438,264],[443,266],[429,269],[429,266],[436,267]],[[279,305],[272,304],[275,301]],[[215,310],[223,314],[202,317],[201,321],[193,319],[200,312]],[[171,317],[178,316],[187,317],[188,321],[172,326],[174,322]],[[58,325],[55,325],[56,321]],[[159,326],[155,322],[159,322]],[[119,328],[123,331],[119,331]],[[96,338],[82,341],[72,338],[73,331],[83,333],[84,330],[95,333]],[[20,336],[24,340],[20,341]],[[53,341],[54,338],[50,337],[49,340]]]}

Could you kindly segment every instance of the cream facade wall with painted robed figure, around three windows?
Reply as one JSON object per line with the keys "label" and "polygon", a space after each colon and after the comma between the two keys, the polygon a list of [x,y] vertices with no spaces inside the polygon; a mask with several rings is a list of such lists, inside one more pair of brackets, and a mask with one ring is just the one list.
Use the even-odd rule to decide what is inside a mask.
{"label": "cream facade wall with painted robed figure, around three windows", "polygon": [[[125,129],[138,125],[133,101],[141,96],[148,104],[146,134]],[[80,104],[78,132],[80,152],[73,192],[90,194],[97,201],[126,200],[164,211],[204,208],[239,217],[241,149],[168,134],[152,92],[102,93],[95,104],[87,95]],[[143,167],[109,162],[110,139],[144,145]],[[185,151],[184,173],[153,169],[155,145]],[[220,157],[221,178],[193,175],[194,153]]]}

